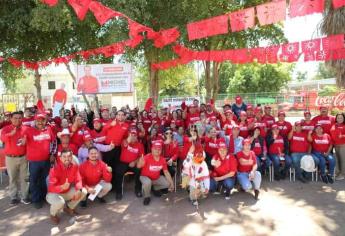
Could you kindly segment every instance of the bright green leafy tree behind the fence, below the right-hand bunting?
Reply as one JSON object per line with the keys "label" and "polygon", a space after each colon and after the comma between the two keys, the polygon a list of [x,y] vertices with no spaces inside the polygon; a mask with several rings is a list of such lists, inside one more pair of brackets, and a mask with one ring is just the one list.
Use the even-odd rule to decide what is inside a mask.
{"label": "bright green leafy tree behind the fence, below the right-hand bunting", "polygon": [[260,93],[282,89],[291,80],[292,65],[257,63],[236,66],[229,93]]}

